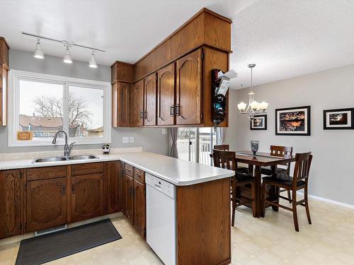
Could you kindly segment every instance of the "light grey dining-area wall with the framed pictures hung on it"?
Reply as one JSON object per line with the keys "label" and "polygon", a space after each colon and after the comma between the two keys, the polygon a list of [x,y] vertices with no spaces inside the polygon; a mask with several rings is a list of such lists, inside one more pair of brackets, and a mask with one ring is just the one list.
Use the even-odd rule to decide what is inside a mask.
{"label": "light grey dining-area wall with the framed pictures hung on it", "polygon": [[[260,151],[270,145],[312,151],[309,194],[354,205],[354,130],[323,129],[323,110],[354,107],[354,64],[256,86],[254,92],[258,102],[269,102],[268,130],[249,129],[236,106],[248,102],[249,89],[232,90],[226,143],[236,150],[249,150],[249,141],[258,140]],[[275,136],[275,109],[305,105],[311,106],[311,136]]]}

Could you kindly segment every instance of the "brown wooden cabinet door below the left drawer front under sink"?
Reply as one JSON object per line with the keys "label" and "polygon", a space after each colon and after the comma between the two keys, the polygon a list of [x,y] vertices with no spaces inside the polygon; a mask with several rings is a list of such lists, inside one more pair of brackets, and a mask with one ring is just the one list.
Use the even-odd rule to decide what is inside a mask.
{"label": "brown wooden cabinet door below the left drawer front under sink", "polygon": [[66,177],[27,182],[27,232],[67,223]]}

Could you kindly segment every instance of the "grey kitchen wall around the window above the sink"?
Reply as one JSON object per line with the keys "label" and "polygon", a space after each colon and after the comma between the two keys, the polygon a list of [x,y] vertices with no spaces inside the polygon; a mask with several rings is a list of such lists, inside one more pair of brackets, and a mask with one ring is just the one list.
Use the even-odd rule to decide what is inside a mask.
{"label": "grey kitchen wall around the window above the sink", "polygon": [[[73,61],[72,65],[64,64],[62,58],[45,55],[44,60],[33,57],[32,52],[10,49],[10,69],[47,73],[57,76],[70,76],[96,81],[110,82],[110,67],[99,65],[97,69],[89,68],[86,61]],[[114,59],[112,59],[114,61]],[[134,136],[135,143],[122,143],[122,136]],[[142,146],[144,151],[169,153],[169,134],[162,134],[158,128],[112,128],[112,147]],[[101,145],[78,145],[76,149],[101,148]],[[8,147],[8,127],[0,126],[0,153],[37,152],[61,150],[60,146],[40,147]]]}

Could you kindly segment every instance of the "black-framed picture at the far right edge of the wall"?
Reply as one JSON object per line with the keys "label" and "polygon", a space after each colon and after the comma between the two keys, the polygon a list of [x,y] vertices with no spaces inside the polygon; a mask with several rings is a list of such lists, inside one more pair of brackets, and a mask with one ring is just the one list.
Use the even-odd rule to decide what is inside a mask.
{"label": "black-framed picture at the far right edge of the wall", "polygon": [[354,129],[354,107],[324,110],[324,130]]}

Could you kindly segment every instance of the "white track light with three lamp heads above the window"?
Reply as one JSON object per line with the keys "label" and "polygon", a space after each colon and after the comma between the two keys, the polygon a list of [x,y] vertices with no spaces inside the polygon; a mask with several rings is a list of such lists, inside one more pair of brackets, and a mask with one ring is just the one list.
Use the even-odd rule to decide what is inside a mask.
{"label": "white track light with three lamp heads above the window", "polygon": [[65,53],[64,53],[63,61],[66,64],[72,64],[72,56],[71,56],[70,50],[69,50],[69,48],[72,48],[72,47],[79,47],[82,49],[90,49],[91,50],[91,52],[92,52],[91,59],[89,61],[89,66],[91,68],[97,68],[97,62],[96,62],[96,57],[95,57],[94,52],[105,52],[103,49],[97,49],[97,48],[88,47],[88,46],[84,46],[84,45],[78,45],[74,42],[69,42],[67,40],[55,40],[50,37],[43,37],[43,36],[35,35],[32,33],[22,33],[22,35],[23,35],[23,37],[31,37],[31,38],[37,40],[37,45],[35,45],[34,57],[38,58],[38,59],[44,58],[44,54],[43,54],[41,46],[40,46],[40,40],[45,40],[47,42],[54,42],[54,43],[57,43],[60,45],[64,45]]}

